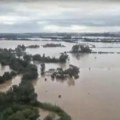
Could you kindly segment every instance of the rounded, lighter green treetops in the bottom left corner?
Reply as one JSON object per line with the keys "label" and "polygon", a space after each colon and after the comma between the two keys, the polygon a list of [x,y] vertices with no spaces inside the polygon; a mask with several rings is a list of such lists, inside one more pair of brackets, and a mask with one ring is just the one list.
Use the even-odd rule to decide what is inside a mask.
{"label": "rounded, lighter green treetops in the bottom left corner", "polygon": [[0,113],[0,120],[37,120],[39,112],[36,108],[15,104]]}

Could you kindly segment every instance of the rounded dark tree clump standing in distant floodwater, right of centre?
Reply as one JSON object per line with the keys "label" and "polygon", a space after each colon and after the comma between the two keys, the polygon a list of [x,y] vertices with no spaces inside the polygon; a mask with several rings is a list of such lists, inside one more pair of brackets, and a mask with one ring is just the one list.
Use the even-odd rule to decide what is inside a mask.
{"label": "rounded dark tree clump standing in distant floodwater, right of centre", "polygon": [[71,50],[72,53],[91,53],[92,50],[88,45],[74,45]]}

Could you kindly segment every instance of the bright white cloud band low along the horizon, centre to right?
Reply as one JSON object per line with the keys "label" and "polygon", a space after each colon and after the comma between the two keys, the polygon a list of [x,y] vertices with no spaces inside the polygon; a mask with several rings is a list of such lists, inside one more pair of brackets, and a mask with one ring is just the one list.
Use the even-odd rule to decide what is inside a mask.
{"label": "bright white cloud band low along the horizon, centre to right", "polygon": [[45,32],[118,32],[120,27],[93,27],[93,26],[79,26],[72,25],[69,27],[57,26],[57,25],[48,25],[45,26],[43,31]]}

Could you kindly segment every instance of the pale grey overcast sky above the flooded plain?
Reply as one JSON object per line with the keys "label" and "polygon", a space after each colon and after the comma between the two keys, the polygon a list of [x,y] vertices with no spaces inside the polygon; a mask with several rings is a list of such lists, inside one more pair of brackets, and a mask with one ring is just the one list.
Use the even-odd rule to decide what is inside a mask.
{"label": "pale grey overcast sky above the flooded plain", "polygon": [[0,32],[120,31],[119,0],[3,1]]}

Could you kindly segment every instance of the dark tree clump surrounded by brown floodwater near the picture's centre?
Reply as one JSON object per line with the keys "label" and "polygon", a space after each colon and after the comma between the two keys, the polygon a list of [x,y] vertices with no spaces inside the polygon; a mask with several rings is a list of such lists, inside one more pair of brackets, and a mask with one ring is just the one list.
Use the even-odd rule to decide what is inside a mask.
{"label": "dark tree clump surrounded by brown floodwater near the picture's centre", "polygon": [[54,72],[51,77],[57,79],[65,79],[67,77],[74,77],[75,79],[79,77],[79,68],[73,65],[66,70],[62,68],[57,68],[56,72]]}

